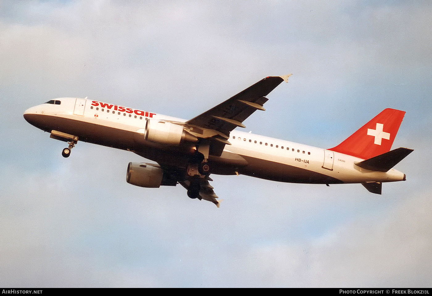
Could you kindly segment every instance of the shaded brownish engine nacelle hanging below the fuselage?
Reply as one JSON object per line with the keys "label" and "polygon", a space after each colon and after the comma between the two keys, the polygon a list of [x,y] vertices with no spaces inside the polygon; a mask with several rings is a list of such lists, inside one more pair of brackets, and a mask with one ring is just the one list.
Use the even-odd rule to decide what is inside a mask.
{"label": "shaded brownish engine nacelle hanging below the fuselage", "polygon": [[129,184],[158,188],[162,185],[163,170],[151,163],[129,162],[127,166],[126,181]]}

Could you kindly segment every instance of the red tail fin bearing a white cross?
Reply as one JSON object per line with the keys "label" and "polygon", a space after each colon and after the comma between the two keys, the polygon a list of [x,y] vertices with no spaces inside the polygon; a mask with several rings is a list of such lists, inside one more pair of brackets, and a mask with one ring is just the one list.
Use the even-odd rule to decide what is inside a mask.
{"label": "red tail fin bearing a white cross", "polygon": [[405,111],[387,108],[360,127],[345,141],[329,150],[362,159],[369,159],[390,151]]}

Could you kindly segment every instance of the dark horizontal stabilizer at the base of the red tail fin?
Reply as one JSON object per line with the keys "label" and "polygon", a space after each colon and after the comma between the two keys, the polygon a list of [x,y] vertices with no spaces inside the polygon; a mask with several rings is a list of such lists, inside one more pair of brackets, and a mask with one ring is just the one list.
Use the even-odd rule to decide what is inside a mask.
{"label": "dark horizontal stabilizer at the base of the red tail fin", "polygon": [[[362,162],[358,162],[356,163],[356,166],[376,172],[388,172],[389,169],[396,166],[398,162],[413,151],[414,150],[408,148],[397,148],[381,155],[363,160]],[[365,186],[365,183],[362,184]]]}

